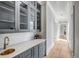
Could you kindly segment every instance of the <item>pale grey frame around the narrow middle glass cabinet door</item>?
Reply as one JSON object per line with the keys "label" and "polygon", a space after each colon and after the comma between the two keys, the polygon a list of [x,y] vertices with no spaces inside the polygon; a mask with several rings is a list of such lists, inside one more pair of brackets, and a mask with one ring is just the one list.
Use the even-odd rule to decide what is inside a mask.
{"label": "pale grey frame around the narrow middle glass cabinet door", "polygon": [[[24,3],[24,2],[22,1],[22,3]],[[17,31],[19,31],[19,32],[21,32],[21,31],[30,31],[29,30],[29,17],[28,17],[29,16],[29,7],[28,7],[28,5],[26,3],[24,3],[24,4],[26,4],[27,7],[28,7],[27,8],[27,11],[28,11],[28,13],[27,13],[27,21],[28,21],[27,24],[28,25],[27,25],[27,29],[21,29],[20,28],[20,23],[21,23],[20,22],[21,21],[21,19],[20,19],[20,17],[21,17],[20,16],[20,7],[21,7],[20,4],[21,4],[21,1],[16,2],[16,20],[17,20],[16,21],[16,28],[17,28]]]}

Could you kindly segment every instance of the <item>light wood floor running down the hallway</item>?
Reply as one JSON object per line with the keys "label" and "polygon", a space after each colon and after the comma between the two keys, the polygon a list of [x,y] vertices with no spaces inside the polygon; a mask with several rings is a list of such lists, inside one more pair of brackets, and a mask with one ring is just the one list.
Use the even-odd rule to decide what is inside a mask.
{"label": "light wood floor running down the hallway", "polygon": [[47,58],[71,58],[71,50],[65,39],[58,39]]}

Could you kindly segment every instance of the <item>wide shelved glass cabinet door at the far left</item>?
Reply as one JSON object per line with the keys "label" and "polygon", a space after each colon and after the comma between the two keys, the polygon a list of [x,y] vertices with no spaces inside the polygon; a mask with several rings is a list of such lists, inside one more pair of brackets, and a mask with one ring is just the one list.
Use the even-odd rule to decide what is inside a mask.
{"label": "wide shelved glass cabinet door at the far left", "polygon": [[15,2],[0,1],[0,30],[15,29]]}

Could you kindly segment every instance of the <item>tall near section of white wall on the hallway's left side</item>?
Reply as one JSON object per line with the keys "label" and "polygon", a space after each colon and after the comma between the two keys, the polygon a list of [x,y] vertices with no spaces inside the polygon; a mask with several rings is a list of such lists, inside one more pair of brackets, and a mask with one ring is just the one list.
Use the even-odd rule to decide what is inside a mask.
{"label": "tall near section of white wall on the hallway's left side", "polygon": [[47,2],[46,4],[46,40],[47,40],[47,54],[53,48],[55,40],[55,18],[52,9]]}

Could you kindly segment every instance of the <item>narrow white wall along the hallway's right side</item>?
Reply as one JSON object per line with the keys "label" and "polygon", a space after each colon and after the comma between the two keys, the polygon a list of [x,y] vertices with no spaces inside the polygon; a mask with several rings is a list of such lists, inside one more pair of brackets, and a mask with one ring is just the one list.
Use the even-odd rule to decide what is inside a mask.
{"label": "narrow white wall along the hallway's right side", "polygon": [[71,18],[68,21],[68,40],[69,46],[73,51],[73,15],[71,15]]}

